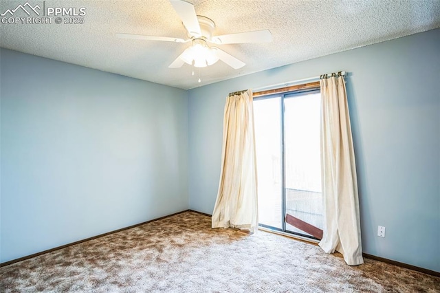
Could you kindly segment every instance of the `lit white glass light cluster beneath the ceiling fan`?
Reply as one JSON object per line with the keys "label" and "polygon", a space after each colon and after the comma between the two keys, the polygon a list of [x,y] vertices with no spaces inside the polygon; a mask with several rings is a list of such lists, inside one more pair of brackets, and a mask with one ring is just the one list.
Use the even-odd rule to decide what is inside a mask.
{"label": "lit white glass light cluster beneath the ceiling fan", "polygon": [[210,48],[203,39],[195,39],[192,45],[180,56],[181,60],[195,67],[206,67],[219,61],[214,49]]}

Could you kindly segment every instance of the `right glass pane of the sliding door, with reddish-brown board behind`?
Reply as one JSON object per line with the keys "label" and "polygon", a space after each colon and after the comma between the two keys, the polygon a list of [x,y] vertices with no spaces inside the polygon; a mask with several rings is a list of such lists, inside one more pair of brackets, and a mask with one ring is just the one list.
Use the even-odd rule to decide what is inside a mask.
{"label": "right glass pane of the sliding door, with reddish-brown board behind", "polygon": [[[322,229],[320,94],[294,96],[284,102],[286,213]],[[309,235],[289,224],[286,230]]]}

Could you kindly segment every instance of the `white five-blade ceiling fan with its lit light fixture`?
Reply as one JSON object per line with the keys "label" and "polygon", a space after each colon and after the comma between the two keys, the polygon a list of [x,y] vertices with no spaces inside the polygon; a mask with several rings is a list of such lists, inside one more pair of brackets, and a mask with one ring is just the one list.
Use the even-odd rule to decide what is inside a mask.
{"label": "white five-blade ceiling fan with its lit light fixture", "polygon": [[[140,34],[116,34],[121,39],[137,39],[148,41],[169,41],[176,43],[191,42],[168,67],[179,68],[185,63],[193,67],[206,67],[221,60],[234,69],[239,69],[245,65],[234,56],[219,49],[210,47],[208,43],[214,45],[236,44],[236,43],[259,43],[272,41],[272,34],[269,30],[257,30],[254,32],[241,32],[237,34],[223,34],[213,36],[215,23],[208,17],[197,15],[192,3],[184,0],[169,0],[174,10],[179,15],[182,23],[188,31],[189,39],[173,38],[169,36],[144,36]],[[192,72],[194,74],[194,72]]]}

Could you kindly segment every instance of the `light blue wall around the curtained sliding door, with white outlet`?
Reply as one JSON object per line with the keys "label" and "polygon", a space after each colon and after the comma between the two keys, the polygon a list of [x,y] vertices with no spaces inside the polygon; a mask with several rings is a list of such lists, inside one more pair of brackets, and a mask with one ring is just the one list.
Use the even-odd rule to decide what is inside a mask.
{"label": "light blue wall around the curtained sliding door, with white outlet", "polygon": [[190,90],[190,208],[214,208],[229,92],[345,70],[364,252],[440,272],[439,48],[437,29]]}

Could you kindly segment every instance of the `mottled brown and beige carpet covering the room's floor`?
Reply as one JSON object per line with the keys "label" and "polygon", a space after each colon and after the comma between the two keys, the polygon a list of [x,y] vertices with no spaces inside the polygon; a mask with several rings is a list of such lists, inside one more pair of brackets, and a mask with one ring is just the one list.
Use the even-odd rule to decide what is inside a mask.
{"label": "mottled brown and beige carpet covering the room's floor", "polygon": [[440,278],[186,212],[0,268],[1,292],[440,292]]}

